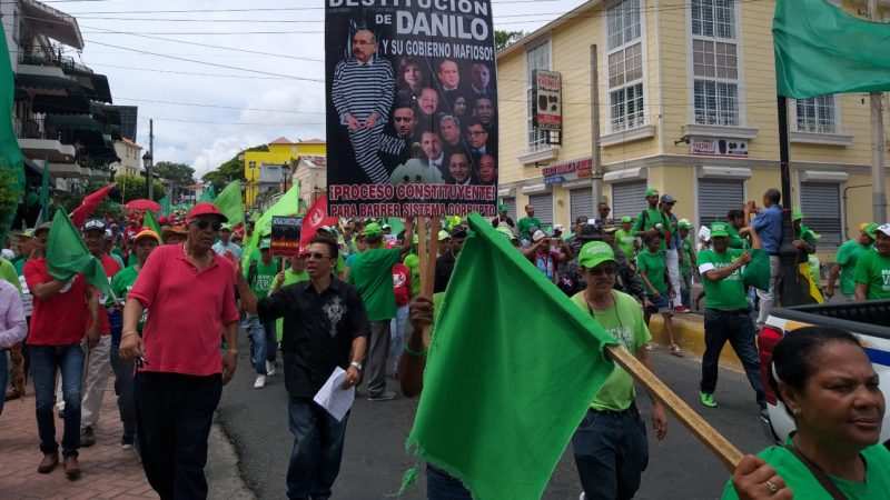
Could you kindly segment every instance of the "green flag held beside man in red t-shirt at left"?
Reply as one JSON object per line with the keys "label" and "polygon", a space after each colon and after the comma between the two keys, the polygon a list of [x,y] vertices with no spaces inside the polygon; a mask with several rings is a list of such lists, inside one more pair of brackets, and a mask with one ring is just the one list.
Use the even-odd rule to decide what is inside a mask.
{"label": "green flag held beside man in red t-shirt at left", "polygon": [[68,281],[80,273],[108,297],[115,297],[102,263],[87,250],[80,233],[65,210],[56,210],[47,239],[47,268],[50,276]]}

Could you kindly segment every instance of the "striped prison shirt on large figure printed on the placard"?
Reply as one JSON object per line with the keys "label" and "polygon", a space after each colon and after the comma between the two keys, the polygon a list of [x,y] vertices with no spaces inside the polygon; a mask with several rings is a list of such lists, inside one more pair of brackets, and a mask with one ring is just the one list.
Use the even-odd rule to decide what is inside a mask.
{"label": "striped prison shirt on large figure printed on the placard", "polygon": [[364,120],[375,111],[379,114],[377,122],[385,123],[394,91],[393,67],[385,59],[374,58],[360,63],[349,58],[338,62],[334,69],[332,99],[344,124],[346,113]]}

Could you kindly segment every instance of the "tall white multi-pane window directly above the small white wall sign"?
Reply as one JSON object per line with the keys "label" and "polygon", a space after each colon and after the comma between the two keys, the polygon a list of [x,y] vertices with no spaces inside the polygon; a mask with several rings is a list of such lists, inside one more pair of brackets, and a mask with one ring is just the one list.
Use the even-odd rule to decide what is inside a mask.
{"label": "tall white multi-pane window directly above the small white wall sign", "polygon": [[735,0],[692,0],[695,123],[739,126]]}

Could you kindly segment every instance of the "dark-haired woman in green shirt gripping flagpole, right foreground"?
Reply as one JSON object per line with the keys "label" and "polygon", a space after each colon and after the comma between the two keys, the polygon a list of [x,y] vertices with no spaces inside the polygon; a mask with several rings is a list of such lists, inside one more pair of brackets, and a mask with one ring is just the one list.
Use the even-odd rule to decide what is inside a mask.
{"label": "dark-haired woman in green shirt gripping flagpole, right foreground", "polygon": [[884,398],[859,341],[847,331],[808,327],[773,350],[770,386],[794,419],[783,447],[746,456],[723,500],[887,499],[890,451],[879,443]]}

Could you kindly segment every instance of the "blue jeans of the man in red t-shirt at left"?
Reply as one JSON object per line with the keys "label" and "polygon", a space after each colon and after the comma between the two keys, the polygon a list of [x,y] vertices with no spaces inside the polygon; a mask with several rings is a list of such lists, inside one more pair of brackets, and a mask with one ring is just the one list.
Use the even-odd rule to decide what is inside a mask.
{"label": "blue jeans of the man in red t-shirt at left", "polygon": [[70,346],[30,346],[31,378],[34,382],[37,430],[40,451],[55,453],[56,422],[52,404],[56,397],[56,372],[61,371],[65,399],[65,433],[62,454],[77,457],[80,448],[80,389],[83,379],[83,349],[80,343]]}

